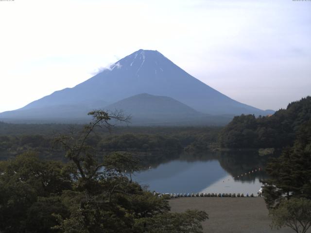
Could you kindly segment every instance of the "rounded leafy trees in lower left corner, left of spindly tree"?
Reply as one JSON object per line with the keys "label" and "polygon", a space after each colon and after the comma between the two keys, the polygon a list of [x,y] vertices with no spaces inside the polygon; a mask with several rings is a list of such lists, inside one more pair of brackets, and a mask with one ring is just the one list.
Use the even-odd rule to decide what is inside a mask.
{"label": "rounded leafy trees in lower left corner, left of spindly tree", "polygon": [[[39,160],[34,152],[0,162],[0,231],[44,232],[55,225],[52,216],[44,220],[43,216],[55,210],[66,212],[60,201],[53,200],[52,196],[71,189],[71,173],[66,165]],[[35,230],[33,227],[39,223],[38,218],[42,223]]]}

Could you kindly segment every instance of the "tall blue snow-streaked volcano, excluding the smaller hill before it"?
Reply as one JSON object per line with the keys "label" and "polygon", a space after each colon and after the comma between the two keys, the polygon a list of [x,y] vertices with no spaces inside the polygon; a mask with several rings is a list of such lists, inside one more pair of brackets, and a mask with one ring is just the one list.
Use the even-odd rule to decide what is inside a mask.
{"label": "tall blue snow-streaked volcano, excluding the smaller hill before it", "polygon": [[[55,91],[21,109],[2,113],[0,118],[23,117],[24,111],[27,112],[27,118],[31,118],[32,110],[44,113],[45,109],[51,108],[57,114],[58,107],[63,112],[78,108],[80,114],[81,109],[87,112],[88,109],[104,108],[114,102],[142,93],[170,97],[205,114],[267,115],[271,113],[230,99],[192,77],[156,50],[138,50],[73,88]],[[72,111],[73,115],[78,112]],[[68,113],[65,115],[67,116]],[[44,118],[42,114],[40,117]]]}

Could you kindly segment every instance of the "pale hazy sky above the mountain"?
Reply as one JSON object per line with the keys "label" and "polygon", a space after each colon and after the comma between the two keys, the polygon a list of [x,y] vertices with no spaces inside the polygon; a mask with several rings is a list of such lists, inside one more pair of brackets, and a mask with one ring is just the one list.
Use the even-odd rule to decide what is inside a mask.
{"label": "pale hazy sky above the mountain", "polygon": [[138,49],[261,109],[311,95],[307,0],[11,0],[0,22],[0,112]]}

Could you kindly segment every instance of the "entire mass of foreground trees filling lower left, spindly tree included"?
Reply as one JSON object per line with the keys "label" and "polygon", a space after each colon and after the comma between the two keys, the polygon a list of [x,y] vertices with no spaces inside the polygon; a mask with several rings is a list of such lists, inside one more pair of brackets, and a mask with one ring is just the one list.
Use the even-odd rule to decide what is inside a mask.
{"label": "entire mass of foreground trees filling lower left, spindly tree included", "polygon": [[[41,160],[34,152],[0,162],[1,233],[202,232],[205,212],[169,213],[168,201],[141,188],[123,171],[138,170],[131,154],[98,156],[91,145],[97,126],[109,128],[120,115],[90,113],[80,133],[56,138],[68,163]],[[26,138],[25,143],[32,143]],[[93,140],[94,139],[94,140]],[[7,141],[4,138],[4,141]],[[172,228],[172,226],[174,226]]]}

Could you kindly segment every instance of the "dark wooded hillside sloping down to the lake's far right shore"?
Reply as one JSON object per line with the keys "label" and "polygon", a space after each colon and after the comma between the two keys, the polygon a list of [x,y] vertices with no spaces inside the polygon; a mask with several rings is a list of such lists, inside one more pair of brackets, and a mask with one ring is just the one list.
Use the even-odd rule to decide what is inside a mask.
{"label": "dark wooded hillside sloping down to the lake's far right shore", "polygon": [[311,119],[311,97],[290,103],[272,116],[242,115],[221,131],[224,148],[283,148],[294,143],[301,125]]}

